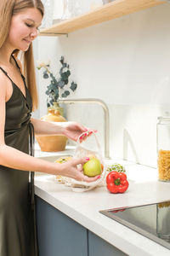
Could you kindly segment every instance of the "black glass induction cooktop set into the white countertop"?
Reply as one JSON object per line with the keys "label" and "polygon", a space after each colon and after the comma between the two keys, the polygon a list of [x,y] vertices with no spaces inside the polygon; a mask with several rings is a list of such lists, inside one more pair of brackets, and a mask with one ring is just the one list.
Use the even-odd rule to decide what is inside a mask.
{"label": "black glass induction cooktop set into the white countertop", "polygon": [[100,212],[170,249],[170,201]]}

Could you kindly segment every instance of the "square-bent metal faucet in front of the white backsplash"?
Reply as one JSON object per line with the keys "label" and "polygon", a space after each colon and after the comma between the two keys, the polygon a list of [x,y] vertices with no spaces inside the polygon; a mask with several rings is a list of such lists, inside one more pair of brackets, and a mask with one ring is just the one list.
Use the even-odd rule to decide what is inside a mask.
{"label": "square-bent metal faucet in front of the white backsplash", "polygon": [[104,123],[104,138],[105,138],[105,158],[106,159],[111,159],[110,157],[110,145],[109,145],[109,130],[110,130],[110,123],[109,123],[109,108],[107,107],[107,105],[105,104],[105,102],[103,102],[100,99],[95,99],[95,98],[70,98],[70,99],[66,99],[66,98],[59,98],[58,100],[59,103],[97,103],[99,104],[103,110],[104,110],[104,114],[105,114],[105,123]]}

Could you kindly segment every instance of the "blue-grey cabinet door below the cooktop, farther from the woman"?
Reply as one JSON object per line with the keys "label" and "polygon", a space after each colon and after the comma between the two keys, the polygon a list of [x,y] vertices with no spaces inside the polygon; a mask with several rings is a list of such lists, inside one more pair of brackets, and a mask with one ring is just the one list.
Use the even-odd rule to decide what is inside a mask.
{"label": "blue-grey cabinet door below the cooktop, farther from the woman", "polygon": [[110,243],[88,231],[88,256],[127,256]]}

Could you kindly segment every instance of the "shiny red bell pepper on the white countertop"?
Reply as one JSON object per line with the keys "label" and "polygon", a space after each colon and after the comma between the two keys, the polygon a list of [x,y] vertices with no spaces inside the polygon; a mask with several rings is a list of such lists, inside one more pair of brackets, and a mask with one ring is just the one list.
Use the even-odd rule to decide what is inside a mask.
{"label": "shiny red bell pepper on the white countertop", "polygon": [[124,193],[128,188],[127,175],[124,172],[110,172],[106,177],[106,183],[111,193]]}

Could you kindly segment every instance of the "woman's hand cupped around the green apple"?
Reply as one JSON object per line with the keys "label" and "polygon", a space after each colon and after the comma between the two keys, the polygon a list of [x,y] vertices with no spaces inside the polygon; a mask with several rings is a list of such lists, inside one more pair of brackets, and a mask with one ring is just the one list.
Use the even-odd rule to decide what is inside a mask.
{"label": "woman's hand cupped around the green apple", "polygon": [[100,175],[95,177],[88,177],[84,175],[82,172],[82,166],[88,160],[89,160],[88,158],[72,159],[72,160],[68,160],[63,164],[59,164],[59,166],[61,167],[60,175],[63,175],[66,177],[72,177],[74,179],[88,182],[88,183],[96,181],[100,177]]}

